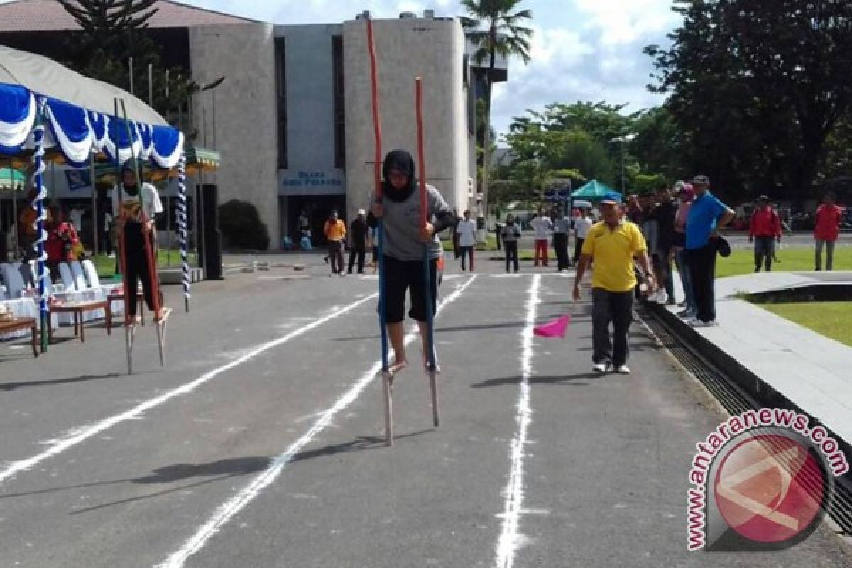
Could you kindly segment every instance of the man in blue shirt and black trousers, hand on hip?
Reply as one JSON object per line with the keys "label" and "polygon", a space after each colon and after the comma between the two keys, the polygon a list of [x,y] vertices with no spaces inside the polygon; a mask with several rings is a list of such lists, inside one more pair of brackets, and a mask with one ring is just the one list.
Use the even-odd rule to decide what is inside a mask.
{"label": "man in blue shirt and black trousers, hand on hip", "polygon": [[698,313],[689,320],[694,327],[716,325],[716,253],[719,229],[734,219],[734,210],[709,192],[710,178],[696,175],[695,199],[689,207],[686,248]]}

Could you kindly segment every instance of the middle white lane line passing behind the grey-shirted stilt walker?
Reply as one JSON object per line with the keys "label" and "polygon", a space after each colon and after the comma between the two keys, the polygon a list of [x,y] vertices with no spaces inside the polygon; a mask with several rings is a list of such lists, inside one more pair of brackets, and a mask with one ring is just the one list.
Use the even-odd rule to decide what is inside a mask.
{"label": "middle white lane line passing behind the grey-shirted stilt walker", "polygon": [[[444,307],[451,304],[453,301],[458,300],[458,297],[462,295],[464,290],[467,290],[470,284],[473,284],[475,279],[475,276],[470,277],[467,282],[459,286],[458,289],[452,292],[452,294],[446,296],[446,299],[440,302],[438,312],[440,313]],[[415,331],[406,335],[406,345],[414,341],[415,337],[417,337],[417,332]],[[213,516],[204,523],[204,525],[192,538],[184,543],[180,550],[178,550],[175,554],[172,554],[164,563],[158,564],[156,568],[181,568],[190,556],[199,552],[201,548],[204,548],[207,541],[209,541],[216,532],[222,529],[222,526],[226,525],[235,514],[245,508],[245,506],[252,502],[256,496],[260,495],[261,491],[266,489],[275,479],[278,478],[281,472],[284,471],[287,464],[293,459],[293,456],[296,456],[296,454],[308,445],[317,434],[322,432],[325,427],[331,424],[331,420],[338,412],[345,409],[358,398],[364,388],[376,378],[380,370],[382,370],[381,360],[373,364],[371,369],[366,371],[358,382],[355,383],[354,387],[344,393],[330,409],[325,410],[325,412],[322,413],[322,416],[320,416],[320,419],[317,420],[317,422],[314,422],[314,425],[310,427],[308,432],[306,432],[302,438],[297,439],[285,450],[283,454],[276,457],[272,464],[254,480],[252,480],[245,489],[239,491],[239,493],[230,501],[219,506],[219,508],[216,509],[216,513],[214,513]]]}

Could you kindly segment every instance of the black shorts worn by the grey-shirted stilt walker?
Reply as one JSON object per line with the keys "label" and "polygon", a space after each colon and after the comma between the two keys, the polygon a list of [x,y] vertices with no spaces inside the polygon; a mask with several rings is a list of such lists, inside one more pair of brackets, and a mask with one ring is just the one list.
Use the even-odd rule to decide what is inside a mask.
{"label": "black shorts worn by the grey-shirted stilt walker", "polygon": [[[385,321],[389,324],[399,324],[405,319],[406,290],[411,290],[412,309],[410,318],[417,321],[427,321],[425,278],[423,261],[397,261],[390,256],[384,257],[385,273]],[[438,305],[438,260],[429,261],[429,287],[432,290],[432,316]]]}

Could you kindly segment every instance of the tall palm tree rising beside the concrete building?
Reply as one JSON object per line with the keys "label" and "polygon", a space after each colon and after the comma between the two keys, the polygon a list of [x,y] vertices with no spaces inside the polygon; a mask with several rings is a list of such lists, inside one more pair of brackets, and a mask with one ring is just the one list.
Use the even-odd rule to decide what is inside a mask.
{"label": "tall palm tree rising beside the concrete building", "polygon": [[489,134],[491,131],[491,94],[494,63],[497,55],[510,57],[518,55],[529,63],[530,44],[533,30],[523,26],[526,20],[533,18],[528,9],[515,12],[521,0],[462,0],[461,5],[469,17],[459,18],[470,42],[475,46],[474,61],[482,65],[488,61],[488,74],[485,79],[485,117],[486,124],[482,135],[482,203],[488,206],[488,170],[490,166]]}

